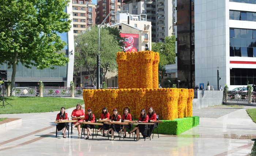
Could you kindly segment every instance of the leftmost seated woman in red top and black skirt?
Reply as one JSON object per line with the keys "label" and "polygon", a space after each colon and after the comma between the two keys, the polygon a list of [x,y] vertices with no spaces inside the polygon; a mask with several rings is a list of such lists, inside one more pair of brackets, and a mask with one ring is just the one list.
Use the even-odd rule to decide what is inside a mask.
{"label": "leftmost seated woman in red top and black skirt", "polygon": [[[57,114],[56,121],[67,121],[68,120],[68,113],[65,113],[65,108],[61,107],[60,113]],[[57,130],[60,131],[62,129],[62,134],[64,138],[66,138],[66,128],[68,126],[67,122],[59,123],[57,125]]]}

